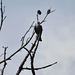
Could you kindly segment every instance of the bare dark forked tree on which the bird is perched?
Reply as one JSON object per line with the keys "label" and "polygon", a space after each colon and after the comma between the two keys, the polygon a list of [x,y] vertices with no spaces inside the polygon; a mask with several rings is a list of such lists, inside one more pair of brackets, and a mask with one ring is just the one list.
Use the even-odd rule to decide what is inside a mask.
{"label": "bare dark forked tree on which the bird is perched", "polygon": [[[44,19],[40,22],[39,21],[39,15],[41,15],[41,11],[38,10],[37,15],[36,15],[37,23],[39,22],[39,24],[42,26],[42,24],[45,22],[47,16],[50,13],[54,12],[54,11],[55,10],[51,11],[51,9],[48,9]],[[4,66],[3,66],[3,69],[1,69],[1,75],[3,75],[3,73],[4,73],[4,69],[5,69],[6,65],[7,65],[7,61],[11,60],[12,57],[15,56],[16,54],[18,54],[18,52],[20,52],[22,49],[26,50],[27,54],[25,55],[23,61],[21,62],[20,66],[19,66],[19,68],[18,68],[18,70],[16,72],[16,75],[19,75],[22,70],[30,70],[32,72],[32,75],[36,75],[35,70],[44,69],[44,68],[50,67],[50,66],[52,66],[52,65],[57,63],[57,62],[54,62],[52,64],[49,64],[49,65],[46,65],[46,66],[43,66],[43,67],[38,67],[38,68],[34,67],[35,54],[36,54],[36,51],[38,50],[39,43],[41,42],[40,41],[40,36],[41,36],[40,33],[41,32],[39,32],[39,27],[35,30],[35,25],[37,23],[36,24],[34,24],[34,23],[35,22],[33,21],[31,26],[29,27],[29,29],[26,31],[24,36],[21,38],[21,47],[7,58],[6,58],[6,49],[7,49],[7,47],[3,47],[4,48],[4,54],[2,54],[2,55],[4,55],[4,59],[2,61],[0,61],[0,64],[4,63]],[[30,37],[27,37],[27,40],[25,40],[26,35],[30,32],[31,28],[33,28],[33,31],[31,32],[32,35]],[[35,34],[37,34],[37,35],[35,35]],[[36,39],[32,42],[31,48],[30,49],[26,48],[26,46],[29,43],[31,43],[31,40],[33,39],[33,37],[36,37]],[[24,67],[24,65],[25,65],[27,59],[29,58],[29,56],[30,56],[30,60],[31,60],[30,61],[31,67],[30,68],[29,67]]]}

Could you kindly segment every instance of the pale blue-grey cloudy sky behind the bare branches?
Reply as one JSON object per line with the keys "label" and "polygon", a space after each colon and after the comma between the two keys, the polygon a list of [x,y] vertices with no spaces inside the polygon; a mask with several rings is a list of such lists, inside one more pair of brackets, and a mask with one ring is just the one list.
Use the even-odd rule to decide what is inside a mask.
{"label": "pale blue-grey cloudy sky behind the bare branches", "polygon": [[[42,20],[47,9],[51,7],[56,11],[49,14],[42,25],[43,41],[40,42],[37,50],[35,67],[45,66],[56,61],[58,63],[47,69],[36,71],[36,75],[75,75],[75,0],[3,1],[7,18],[0,31],[0,54],[3,53],[2,46],[8,46],[7,57],[19,49],[21,37],[32,22],[36,22],[37,10],[42,11],[40,16],[40,20]],[[26,53],[23,50],[8,61],[4,75],[15,75]],[[30,66],[29,64],[30,60],[25,67]],[[22,71],[20,75],[32,75],[32,73]]]}

